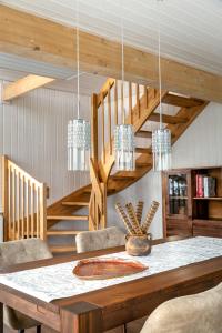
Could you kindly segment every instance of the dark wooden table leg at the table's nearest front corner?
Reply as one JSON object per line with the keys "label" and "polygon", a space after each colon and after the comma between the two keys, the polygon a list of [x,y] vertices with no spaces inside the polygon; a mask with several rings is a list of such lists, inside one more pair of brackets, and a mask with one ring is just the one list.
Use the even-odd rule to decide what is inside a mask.
{"label": "dark wooden table leg at the table's nearest front corner", "polygon": [[79,302],[61,307],[61,333],[102,333],[102,311],[97,305]]}

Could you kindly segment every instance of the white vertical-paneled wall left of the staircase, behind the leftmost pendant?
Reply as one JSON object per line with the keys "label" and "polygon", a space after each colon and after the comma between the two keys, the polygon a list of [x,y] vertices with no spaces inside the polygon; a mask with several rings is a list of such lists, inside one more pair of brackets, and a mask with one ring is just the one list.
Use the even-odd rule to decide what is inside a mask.
{"label": "white vertical-paneled wall left of the staircase, behind the leftmost pendant", "polygon": [[[50,89],[0,105],[0,154],[46,182],[49,203],[89,183],[88,172],[67,171],[67,124],[77,117],[74,105],[75,95]],[[87,95],[81,97],[81,115],[90,119]]]}

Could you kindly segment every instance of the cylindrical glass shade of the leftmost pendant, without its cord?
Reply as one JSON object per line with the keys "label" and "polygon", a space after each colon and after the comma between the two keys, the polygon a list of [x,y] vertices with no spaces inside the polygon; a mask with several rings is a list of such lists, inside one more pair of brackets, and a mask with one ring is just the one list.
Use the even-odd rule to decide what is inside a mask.
{"label": "cylindrical glass shade of the leftmost pendant, without its cord", "polygon": [[68,123],[68,170],[89,170],[90,123],[84,119],[70,120]]}

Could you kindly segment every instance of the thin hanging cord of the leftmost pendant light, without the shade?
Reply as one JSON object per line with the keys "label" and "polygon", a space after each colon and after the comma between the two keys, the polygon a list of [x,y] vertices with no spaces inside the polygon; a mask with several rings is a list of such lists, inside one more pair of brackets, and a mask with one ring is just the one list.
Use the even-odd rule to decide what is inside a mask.
{"label": "thin hanging cord of the leftmost pendant light, without the shade", "polygon": [[79,37],[79,0],[75,0],[77,14],[77,117],[80,119],[80,37]]}

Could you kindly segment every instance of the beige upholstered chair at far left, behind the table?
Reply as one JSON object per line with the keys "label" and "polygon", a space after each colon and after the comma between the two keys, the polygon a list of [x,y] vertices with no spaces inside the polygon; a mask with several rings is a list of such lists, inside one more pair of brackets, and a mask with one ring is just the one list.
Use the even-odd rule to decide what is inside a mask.
{"label": "beige upholstered chair at far left, behind the table", "polygon": [[[0,243],[0,266],[52,258],[46,242],[40,239],[27,239]],[[3,309],[4,324],[19,333],[30,327],[41,332],[41,324],[27,315],[9,307]]]}

